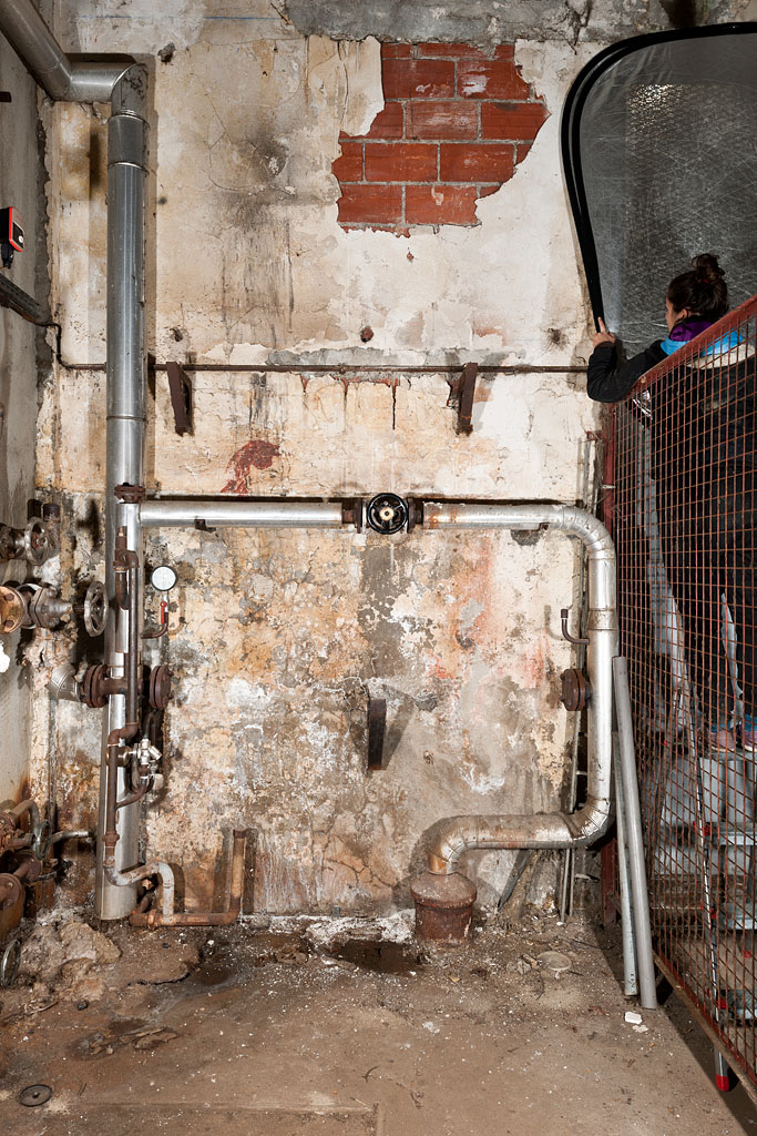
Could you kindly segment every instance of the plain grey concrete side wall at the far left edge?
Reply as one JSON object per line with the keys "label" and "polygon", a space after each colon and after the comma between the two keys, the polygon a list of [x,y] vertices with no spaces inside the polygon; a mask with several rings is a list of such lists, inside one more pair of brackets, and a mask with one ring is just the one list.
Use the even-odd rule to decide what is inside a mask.
{"label": "plain grey concrete side wall at the far left edge", "polygon": [[[0,208],[19,210],[26,241],[26,250],[16,253],[12,267],[0,273],[47,302],[47,285],[36,278],[45,251],[42,245],[42,257],[37,257],[43,181],[36,89],[1,37],[0,89],[10,92],[12,100],[0,103]],[[19,528],[26,524],[26,502],[34,496],[35,352],[34,326],[0,308],[0,521]],[[24,561],[0,563],[0,582],[24,579],[26,567]],[[0,640],[0,801],[18,796],[30,766],[32,669],[20,644],[20,632]]]}

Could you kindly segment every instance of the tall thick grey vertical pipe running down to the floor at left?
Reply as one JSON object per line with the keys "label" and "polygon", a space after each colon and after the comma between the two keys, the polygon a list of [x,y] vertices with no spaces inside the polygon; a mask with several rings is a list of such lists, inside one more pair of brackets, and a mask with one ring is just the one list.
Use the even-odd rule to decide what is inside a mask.
{"label": "tall thick grey vertical pipe running down to the floor at left", "polygon": [[[144,484],[146,352],[144,331],[144,199],[148,124],[144,118],[146,75],[131,68],[113,89],[108,124],[108,368],[107,368],[107,490],[106,490],[106,591],[110,613],[106,628],[106,666],[113,677],[124,675],[129,640],[138,629],[132,616],[115,603],[113,556],[116,529],[126,528],[127,546],[136,552],[134,571],[138,621],[142,607],[142,529],[136,504],[116,498],[116,486]],[[137,668],[138,658],[131,660]],[[95,913],[100,919],[121,919],[136,899],[136,883],[116,887],[103,871],[103,826],[108,794],[108,735],[126,725],[124,695],[111,695],[103,722],[100,766],[100,813]],[[126,772],[118,770],[118,796],[126,790]],[[138,804],[118,811],[115,867],[133,868],[138,861]]]}

